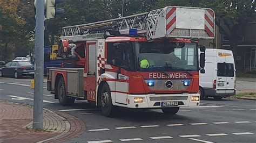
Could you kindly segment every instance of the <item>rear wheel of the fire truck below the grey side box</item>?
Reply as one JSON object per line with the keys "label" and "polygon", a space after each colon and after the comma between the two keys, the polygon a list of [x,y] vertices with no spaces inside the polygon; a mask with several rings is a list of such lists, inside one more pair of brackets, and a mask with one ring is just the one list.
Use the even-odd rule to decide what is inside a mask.
{"label": "rear wheel of the fire truck below the grey side box", "polygon": [[75,98],[66,96],[66,87],[65,87],[65,82],[63,77],[59,79],[57,90],[58,90],[57,95],[59,98],[59,103],[61,105],[64,105],[64,106],[71,105],[75,102]]}

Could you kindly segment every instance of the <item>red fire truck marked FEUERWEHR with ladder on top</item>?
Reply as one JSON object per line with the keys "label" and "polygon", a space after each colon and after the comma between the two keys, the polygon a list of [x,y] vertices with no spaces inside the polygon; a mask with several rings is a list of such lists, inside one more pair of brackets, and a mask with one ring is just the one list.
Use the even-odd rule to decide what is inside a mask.
{"label": "red fire truck marked FEUERWEHR with ladder on top", "polygon": [[211,9],[167,6],[63,27],[58,56],[81,68],[48,67],[48,91],[62,105],[87,100],[107,117],[117,106],[170,114],[199,106],[205,47],[197,41],[213,39],[214,25]]}

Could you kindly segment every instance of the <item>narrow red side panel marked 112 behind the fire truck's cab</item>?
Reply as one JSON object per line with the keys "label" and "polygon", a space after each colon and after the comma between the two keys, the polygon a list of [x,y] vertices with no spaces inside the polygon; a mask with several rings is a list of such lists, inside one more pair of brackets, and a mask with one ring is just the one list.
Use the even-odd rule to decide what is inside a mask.
{"label": "narrow red side panel marked 112 behind the fire truck's cab", "polygon": [[87,41],[85,49],[84,90],[88,101],[96,101],[96,41]]}

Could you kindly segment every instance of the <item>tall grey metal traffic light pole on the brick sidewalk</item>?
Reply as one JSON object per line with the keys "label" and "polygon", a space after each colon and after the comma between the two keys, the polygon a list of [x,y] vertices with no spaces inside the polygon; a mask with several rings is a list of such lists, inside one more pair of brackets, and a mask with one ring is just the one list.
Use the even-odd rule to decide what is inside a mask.
{"label": "tall grey metal traffic light pole on the brick sidewalk", "polygon": [[43,129],[44,87],[44,0],[36,1],[35,89],[33,100],[34,130]]}

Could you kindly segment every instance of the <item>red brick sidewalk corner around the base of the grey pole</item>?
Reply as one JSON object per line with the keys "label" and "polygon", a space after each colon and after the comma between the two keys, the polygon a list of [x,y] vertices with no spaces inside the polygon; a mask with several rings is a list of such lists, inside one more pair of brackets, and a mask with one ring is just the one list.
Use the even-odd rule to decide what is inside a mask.
{"label": "red brick sidewalk corner around the base of the grey pole", "polygon": [[0,101],[0,142],[62,142],[85,132],[82,120],[44,110],[44,130],[32,130],[31,106]]}

